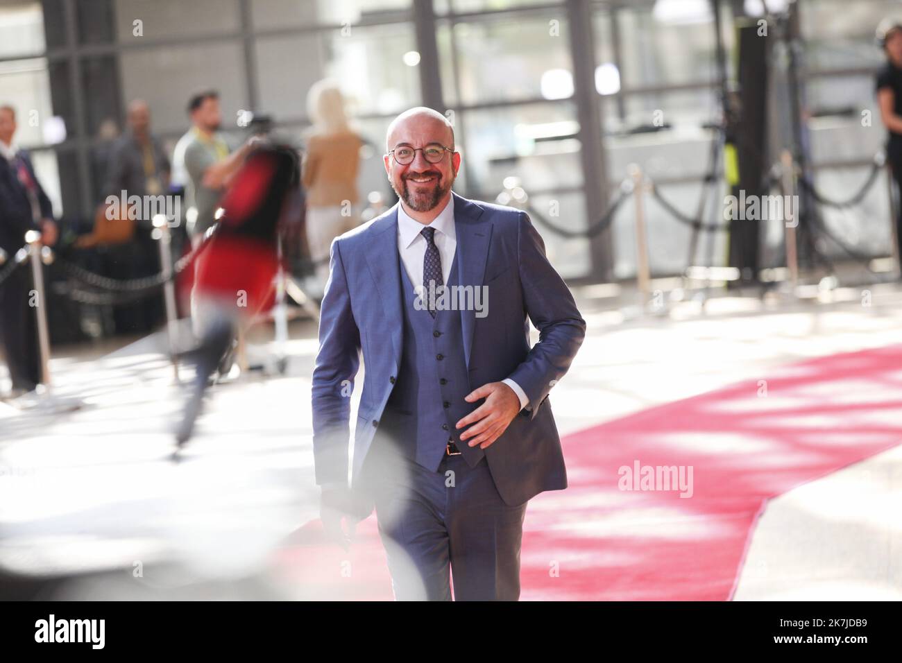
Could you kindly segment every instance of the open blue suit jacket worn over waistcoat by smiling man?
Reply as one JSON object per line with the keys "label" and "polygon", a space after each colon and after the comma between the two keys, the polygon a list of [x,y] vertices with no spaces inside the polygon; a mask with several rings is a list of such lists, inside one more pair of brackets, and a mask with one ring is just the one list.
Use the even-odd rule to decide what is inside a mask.
{"label": "open blue suit jacket worn over waistcoat by smiling man", "polygon": [[[525,212],[455,197],[461,285],[486,286],[488,315],[461,311],[470,389],[511,378],[529,398],[485,449],[504,502],[515,505],[566,488],[566,467],[548,391],[564,376],[585,336],[573,296],[548,262]],[[335,239],[313,370],[317,483],[347,481],[348,397],[363,350],[364,390],[354,433],[352,487],[398,374],[402,339],[398,206]],[[529,346],[529,321],[539,341]],[[375,423],[375,425],[374,425]]]}

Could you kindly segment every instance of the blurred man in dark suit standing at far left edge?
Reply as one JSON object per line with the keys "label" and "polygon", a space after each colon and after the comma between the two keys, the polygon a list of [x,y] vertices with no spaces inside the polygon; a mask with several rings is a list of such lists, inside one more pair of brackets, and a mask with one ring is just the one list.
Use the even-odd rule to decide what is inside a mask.
{"label": "blurred man in dark suit standing at far left edge", "polygon": [[[0,106],[0,248],[8,260],[23,246],[29,230],[40,231],[44,244],[55,244],[58,235],[50,198],[35,177],[28,154],[14,143],[15,129],[14,107]],[[41,382],[31,290],[31,270],[24,265],[0,283],[0,336],[14,396]]]}

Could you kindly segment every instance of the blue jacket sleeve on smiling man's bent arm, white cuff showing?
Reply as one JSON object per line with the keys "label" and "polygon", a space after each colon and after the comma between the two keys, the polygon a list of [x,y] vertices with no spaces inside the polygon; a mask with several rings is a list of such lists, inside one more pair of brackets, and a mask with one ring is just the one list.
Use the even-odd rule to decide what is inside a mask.
{"label": "blue jacket sleeve on smiling man's bent arm, white cuff showing", "polygon": [[525,212],[520,212],[518,254],[523,306],[538,329],[538,343],[509,376],[529,398],[529,419],[551,387],[567,372],[583,344],[585,320],[566,283],[548,262],[545,243]]}

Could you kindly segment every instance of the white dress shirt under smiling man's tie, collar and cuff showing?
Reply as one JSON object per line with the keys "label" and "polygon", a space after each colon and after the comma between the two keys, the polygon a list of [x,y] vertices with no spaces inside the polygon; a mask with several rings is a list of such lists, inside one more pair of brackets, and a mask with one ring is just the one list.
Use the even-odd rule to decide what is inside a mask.
{"label": "white dress shirt under smiling man's tie, collar and cuff showing", "polygon": [[[407,271],[410,278],[410,284],[416,291],[423,286],[423,259],[426,257],[426,237],[422,235],[422,230],[427,226],[419,223],[416,219],[410,218],[404,211],[403,205],[398,205],[398,253],[400,254],[401,264]],[[448,282],[451,276],[451,267],[453,266],[455,253],[457,249],[457,235],[455,233],[454,222],[454,197],[448,198],[446,206],[438,213],[428,227],[435,228],[433,241],[438,248],[438,256],[442,262],[442,282]],[[502,380],[507,384],[517,397],[520,399],[520,410],[529,403],[526,392],[520,388],[517,382],[510,378]]]}

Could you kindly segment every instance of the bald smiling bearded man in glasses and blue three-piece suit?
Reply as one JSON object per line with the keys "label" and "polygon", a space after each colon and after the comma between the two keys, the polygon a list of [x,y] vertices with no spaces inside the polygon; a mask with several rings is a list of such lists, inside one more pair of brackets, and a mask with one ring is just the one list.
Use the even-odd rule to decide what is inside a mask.
{"label": "bald smiling bearded man in glasses and blue three-piece suit", "polygon": [[322,520],[346,547],[343,520],[375,509],[396,600],[448,601],[453,577],[458,601],[516,601],[527,502],[567,484],[548,392],[585,321],[526,213],[451,190],[444,115],[402,113],[386,152],[398,204],[331,248],[312,388]]}

